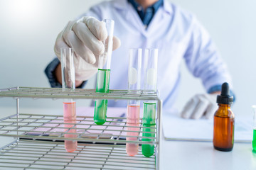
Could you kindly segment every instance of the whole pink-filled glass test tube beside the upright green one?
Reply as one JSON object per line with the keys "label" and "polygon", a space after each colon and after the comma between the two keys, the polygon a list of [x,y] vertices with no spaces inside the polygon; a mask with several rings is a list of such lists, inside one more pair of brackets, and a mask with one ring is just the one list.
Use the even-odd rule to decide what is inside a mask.
{"label": "whole pink-filled glass test tube beside the upright green one", "polygon": [[[142,77],[142,49],[129,50],[128,91],[141,90]],[[138,140],[140,102],[129,100],[127,103],[127,141]],[[139,144],[126,143],[129,156],[135,156],[139,151]]]}

